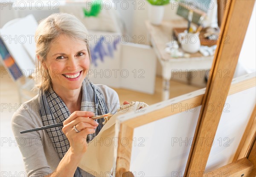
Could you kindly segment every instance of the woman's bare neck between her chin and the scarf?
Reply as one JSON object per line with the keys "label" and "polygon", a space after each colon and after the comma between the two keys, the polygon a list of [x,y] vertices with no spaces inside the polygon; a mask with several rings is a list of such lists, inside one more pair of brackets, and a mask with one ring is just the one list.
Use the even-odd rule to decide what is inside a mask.
{"label": "woman's bare neck between her chin and the scarf", "polygon": [[66,104],[67,108],[70,110],[70,113],[73,113],[76,110],[81,109],[81,100],[82,100],[82,90],[65,90],[57,89],[52,86],[54,92],[62,99]]}

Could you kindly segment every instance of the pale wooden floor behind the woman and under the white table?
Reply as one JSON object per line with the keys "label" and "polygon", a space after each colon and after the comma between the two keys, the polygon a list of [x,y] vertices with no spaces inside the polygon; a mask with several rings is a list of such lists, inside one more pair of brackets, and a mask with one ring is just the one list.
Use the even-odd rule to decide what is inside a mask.
{"label": "pale wooden floor behind the woman and under the white table", "polygon": [[[18,174],[24,174],[24,166],[22,156],[15,143],[15,138],[12,134],[11,129],[11,119],[13,113],[19,107],[19,97],[17,85],[9,76],[9,74],[4,74],[6,70],[1,67],[0,76],[0,102],[1,102],[1,112],[0,112],[0,134],[1,134],[1,146],[0,146],[0,168],[1,171],[5,171],[7,176],[12,174],[18,176]],[[200,89],[199,87],[194,87],[177,81],[170,82],[170,98],[183,95],[185,93],[192,92],[194,90]],[[115,89],[119,95],[120,103],[124,101],[140,101],[147,104],[154,104],[161,101],[161,91],[162,91],[162,78],[157,77],[155,83],[155,93],[153,95],[134,92],[132,90],[126,89]],[[15,168],[13,168],[15,167]],[[1,172],[2,174],[2,172]]]}

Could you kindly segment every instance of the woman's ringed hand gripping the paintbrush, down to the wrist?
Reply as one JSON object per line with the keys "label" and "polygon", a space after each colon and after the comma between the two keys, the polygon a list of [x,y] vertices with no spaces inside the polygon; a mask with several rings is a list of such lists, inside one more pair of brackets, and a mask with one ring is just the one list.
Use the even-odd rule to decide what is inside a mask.
{"label": "woman's ringed hand gripping the paintbrush, down to the wrist", "polygon": [[[70,150],[77,155],[84,154],[87,150],[86,138],[88,134],[95,133],[99,125],[89,117],[94,116],[93,112],[75,111],[67,118],[62,131],[70,142]],[[75,128],[79,131],[76,132]]]}

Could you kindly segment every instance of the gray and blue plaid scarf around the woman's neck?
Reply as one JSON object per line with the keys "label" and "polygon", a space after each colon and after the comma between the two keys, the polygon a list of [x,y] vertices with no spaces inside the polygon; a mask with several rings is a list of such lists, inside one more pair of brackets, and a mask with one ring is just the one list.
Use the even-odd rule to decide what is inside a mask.
{"label": "gray and blue plaid scarf around the woman's neck", "polygon": [[[52,87],[46,92],[40,90],[39,103],[40,116],[44,126],[64,122],[71,114],[61,98],[52,90]],[[87,79],[82,84],[81,111],[91,111],[96,116],[109,112],[102,93]],[[96,122],[99,123],[96,132],[87,135],[87,142],[90,142],[99,133],[104,119],[98,119]],[[55,150],[62,159],[70,148],[67,136],[62,132],[62,127],[49,128],[46,131],[52,140]],[[74,177],[81,176],[81,171],[78,167]]]}

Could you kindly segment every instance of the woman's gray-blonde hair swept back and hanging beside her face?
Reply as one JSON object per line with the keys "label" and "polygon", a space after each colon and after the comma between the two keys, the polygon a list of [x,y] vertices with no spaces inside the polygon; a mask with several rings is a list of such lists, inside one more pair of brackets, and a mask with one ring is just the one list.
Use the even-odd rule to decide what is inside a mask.
{"label": "woman's gray-blonde hair swept back and hanging beside her face", "polygon": [[87,41],[88,32],[84,24],[74,15],[66,13],[55,13],[50,15],[44,20],[41,20],[35,32],[36,55],[38,58],[36,59],[35,71],[37,72],[35,74],[37,77],[34,76],[34,78],[37,81],[35,87],[38,89],[45,91],[52,85],[48,70],[46,70],[42,64],[46,61],[50,44],[62,34],[85,41],[91,61],[89,44]]}

